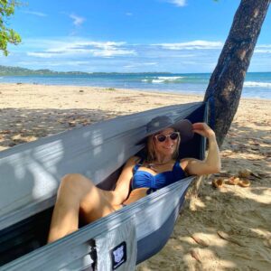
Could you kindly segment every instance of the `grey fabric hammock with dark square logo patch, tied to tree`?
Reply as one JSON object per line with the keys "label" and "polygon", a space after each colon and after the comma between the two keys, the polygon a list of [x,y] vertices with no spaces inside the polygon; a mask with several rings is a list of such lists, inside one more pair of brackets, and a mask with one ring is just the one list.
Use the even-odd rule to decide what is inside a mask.
{"label": "grey fabric hammock with dark square logo patch, tied to tree", "polygon": [[[0,270],[133,270],[173,232],[194,176],[164,187],[121,210],[46,245],[61,177],[81,173],[114,189],[126,160],[140,153],[145,124],[167,115],[206,121],[207,105],[161,107],[73,129],[0,153]],[[182,157],[204,158],[205,139],[181,144]]]}

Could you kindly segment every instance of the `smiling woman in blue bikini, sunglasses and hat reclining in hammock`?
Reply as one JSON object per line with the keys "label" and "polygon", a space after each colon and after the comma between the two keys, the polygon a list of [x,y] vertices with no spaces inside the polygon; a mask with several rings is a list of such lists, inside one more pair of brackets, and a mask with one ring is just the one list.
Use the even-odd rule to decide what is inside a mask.
{"label": "smiling woman in blue bikini, sunglasses and hat reclining in hammock", "polygon": [[[185,119],[174,124],[170,117],[160,116],[152,119],[146,130],[145,159],[133,156],[126,162],[114,191],[99,189],[81,174],[67,174],[62,178],[52,214],[48,242],[77,230],[79,219],[90,223],[145,197],[156,189],[179,181],[186,175],[220,171],[216,137],[205,123],[192,125]],[[209,139],[207,158],[204,161],[193,158],[179,161],[180,142],[190,140],[193,133]]]}

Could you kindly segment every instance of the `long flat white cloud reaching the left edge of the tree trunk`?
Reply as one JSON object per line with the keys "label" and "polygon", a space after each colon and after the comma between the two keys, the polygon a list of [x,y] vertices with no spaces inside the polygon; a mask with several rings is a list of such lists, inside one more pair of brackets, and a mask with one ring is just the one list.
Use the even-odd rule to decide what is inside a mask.
{"label": "long flat white cloud reaching the left edge of the tree trunk", "polygon": [[161,46],[167,50],[209,50],[222,48],[223,42],[193,41],[180,43],[160,43],[153,45]]}

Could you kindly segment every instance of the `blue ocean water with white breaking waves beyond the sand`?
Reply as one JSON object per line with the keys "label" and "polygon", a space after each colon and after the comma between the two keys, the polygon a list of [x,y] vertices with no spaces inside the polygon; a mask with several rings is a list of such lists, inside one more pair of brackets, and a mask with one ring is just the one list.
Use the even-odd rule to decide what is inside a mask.
{"label": "blue ocean water with white breaking waves beyond the sand", "polygon": [[[84,75],[0,76],[0,83],[94,86],[204,95],[209,79],[210,73],[89,73]],[[270,99],[271,72],[248,72],[242,97]]]}

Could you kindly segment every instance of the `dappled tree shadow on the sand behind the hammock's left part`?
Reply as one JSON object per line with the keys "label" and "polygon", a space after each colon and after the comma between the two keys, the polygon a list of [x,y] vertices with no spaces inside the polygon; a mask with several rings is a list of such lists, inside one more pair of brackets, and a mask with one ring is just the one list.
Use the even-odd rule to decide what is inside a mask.
{"label": "dappled tree shadow on the sand behind the hammock's left part", "polygon": [[[122,112],[126,115],[128,112]],[[98,109],[1,109],[0,148],[34,141],[80,126],[117,117],[120,114]]]}

